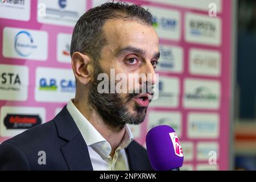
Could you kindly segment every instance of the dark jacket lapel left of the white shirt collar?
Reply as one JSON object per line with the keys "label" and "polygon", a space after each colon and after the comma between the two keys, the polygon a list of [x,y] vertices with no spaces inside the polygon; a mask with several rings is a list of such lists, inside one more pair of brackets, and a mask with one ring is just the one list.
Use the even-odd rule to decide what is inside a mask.
{"label": "dark jacket lapel left of the white shirt collar", "polygon": [[64,106],[54,118],[57,132],[60,138],[67,141],[60,148],[70,170],[93,170],[87,144],[69,114],[67,106]]}

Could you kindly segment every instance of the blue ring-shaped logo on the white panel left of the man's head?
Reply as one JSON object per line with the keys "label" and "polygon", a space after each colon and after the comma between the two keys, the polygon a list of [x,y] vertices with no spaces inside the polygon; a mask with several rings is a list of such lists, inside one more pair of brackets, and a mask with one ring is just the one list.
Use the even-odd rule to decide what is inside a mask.
{"label": "blue ring-shaped logo on the white panel left of the man's head", "polygon": [[38,46],[34,44],[34,40],[29,32],[20,31],[14,38],[14,48],[18,55],[28,57]]}

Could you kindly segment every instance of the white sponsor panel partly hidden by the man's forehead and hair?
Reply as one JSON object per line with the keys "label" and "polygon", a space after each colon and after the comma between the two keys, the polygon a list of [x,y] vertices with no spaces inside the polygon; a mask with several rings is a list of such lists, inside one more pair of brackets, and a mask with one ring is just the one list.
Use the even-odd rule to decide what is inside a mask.
{"label": "white sponsor panel partly hidden by the man's forehead and hair", "polygon": [[153,15],[153,26],[161,39],[179,41],[181,37],[181,15],[179,11],[153,6],[143,6]]}

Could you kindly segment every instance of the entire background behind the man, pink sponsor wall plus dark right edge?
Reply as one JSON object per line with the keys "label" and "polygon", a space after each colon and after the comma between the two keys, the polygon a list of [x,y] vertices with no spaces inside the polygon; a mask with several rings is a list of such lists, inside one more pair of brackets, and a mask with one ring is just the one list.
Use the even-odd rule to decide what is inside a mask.
{"label": "entire background behind the man, pink sponsor wall plus dark right edge", "polygon": [[[0,1],[0,143],[51,120],[75,94],[69,53],[79,17],[104,0]],[[256,1],[130,0],[160,40],[159,98],[131,126],[170,125],[183,170],[256,170]]]}

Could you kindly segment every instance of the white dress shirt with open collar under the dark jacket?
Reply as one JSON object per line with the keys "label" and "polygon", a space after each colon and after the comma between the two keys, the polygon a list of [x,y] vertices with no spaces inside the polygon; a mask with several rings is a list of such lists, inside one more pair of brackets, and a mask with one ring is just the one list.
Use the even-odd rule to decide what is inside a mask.
{"label": "white dress shirt with open collar under the dark jacket", "polygon": [[112,148],[104,137],[93,127],[93,125],[80,113],[73,104],[73,100],[69,100],[67,109],[71,114],[77,127],[79,128],[82,137],[84,138],[90,155],[94,171],[125,171],[129,170],[129,164],[125,152],[125,148],[133,140],[133,135],[129,127],[125,126],[125,135],[119,146],[115,150],[112,157],[110,152]]}

